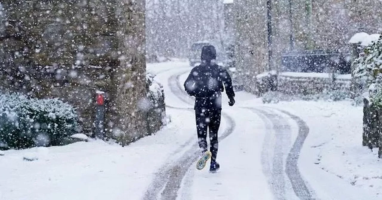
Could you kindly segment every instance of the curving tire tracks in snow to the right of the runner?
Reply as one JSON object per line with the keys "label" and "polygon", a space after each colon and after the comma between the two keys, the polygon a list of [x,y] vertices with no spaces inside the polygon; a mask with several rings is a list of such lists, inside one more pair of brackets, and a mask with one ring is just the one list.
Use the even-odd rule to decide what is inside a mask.
{"label": "curving tire tracks in snow to the right of the runner", "polygon": [[[271,107],[269,107],[269,108],[275,109],[275,108],[271,108]],[[277,142],[278,140],[280,140],[280,139],[278,139],[278,137],[280,137],[282,134],[282,132],[280,133],[279,131],[284,129],[284,128],[289,129],[289,131],[290,131],[290,125],[287,124],[285,118],[282,117],[281,115],[277,115],[273,112],[266,111],[263,109],[255,109],[255,108],[248,108],[248,109],[253,110],[253,112],[255,112],[259,115],[259,117],[264,121],[267,130],[271,130],[272,129],[271,127],[273,124],[274,130],[276,132],[275,133],[275,136],[276,136],[275,151],[276,151],[278,148],[278,145],[280,145]],[[293,192],[296,194],[296,196],[301,200],[311,200],[311,199],[313,199],[311,192],[309,191],[308,187],[306,186],[305,181],[303,180],[301,173],[299,172],[298,166],[297,166],[298,157],[299,157],[299,154],[301,152],[304,141],[305,141],[306,137],[308,136],[309,128],[306,125],[306,123],[301,118],[297,117],[296,115],[290,114],[289,112],[286,112],[286,111],[280,110],[280,109],[275,109],[275,110],[278,110],[279,112],[282,112],[282,113],[288,115],[290,118],[295,120],[297,125],[298,125],[298,129],[299,129],[298,132],[299,133],[298,133],[298,136],[297,136],[297,138],[296,138],[293,146],[291,147],[291,149],[288,153],[288,156],[286,158],[285,173],[286,173],[286,176],[288,177],[288,179],[291,183],[291,186],[293,188]],[[283,127],[284,125],[286,125],[286,126]],[[279,133],[277,133],[277,132],[279,132]],[[266,146],[268,144],[270,144],[270,135],[266,134],[265,138],[264,138],[264,145],[263,145],[262,153],[261,153],[264,173],[268,177],[270,177],[270,179],[271,179],[270,180],[270,186],[274,192],[275,198],[276,199],[287,199],[284,196],[285,195],[285,181],[284,181],[284,177],[283,177],[284,171],[280,170],[283,168],[283,165],[284,165],[283,164],[283,157],[280,158],[280,156],[278,156],[278,153],[277,152],[275,153],[276,156],[274,156],[274,158],[273,158],[273,170],[271,170],[271,166],[269,165],[269,163],[270,163],[269,148]],[[275,162],[275,159],[281,159],[282,163]],[[280,164],[281,164],[281,167],[280,167]],[[280,180],[281,180],[281,182],[278,182]],[[276,183],[276,184],[274,184],[274,183]],[[284,184],[284,186],[281,186],[281,184]]]}

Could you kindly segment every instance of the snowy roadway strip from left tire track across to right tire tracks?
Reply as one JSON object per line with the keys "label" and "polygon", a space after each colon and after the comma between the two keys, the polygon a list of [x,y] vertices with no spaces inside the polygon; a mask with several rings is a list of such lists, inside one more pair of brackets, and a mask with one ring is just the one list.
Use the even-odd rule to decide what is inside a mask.
{"label": "snowy roadway strip from left tire track across to right tire tracks", "polygon": [[[165,70],[157,73],[157,78],[162,83],[164,80],[168,80],[167,83],[164,82],[168,107],[180,109],[188,106],[186,109],[192,108],[193,99],[187,96],[181,86],[189,70],[189,67],[185,67],[185,69]],[[240,99],[239,95],[238,99]],[[227,104],[227,98],[224,102]],[[292,115],[289,116],[292,117]],[[204,179],[197,177],[203,173],[190,168],[200,154],[196,139],[194,139],[191,150],[185,152],[179,161],[165,166],[167,169],[160,170],[162,173],[159,173],[154,179],[144,199],[156,197],[173,200],[177,197],[178,199],[200,199],[205,196],[233,199],[238,197],[238,194],[241,199],[272,199],[272,196],[277,199],[296,199],[296,195],[302,199],[311,199],[311,192],[301,178],[296,164],[299,151],[308,134],[305,124],[299,126],[299,129],[305,131],[301,131],[302,136],[297,138],[296,147],[291,149],[292,130],[285,116],[257,106],[257,108],[224,108],[223,117],[227,119],[228,127],[219,137],[222,145],[220,145],[218,157],[221,160],[222,169],[224,169],[219,176],[227,176],[226,173],[229,173],[229,176],[217,179],[219,176],[215,176],[215,174],[204,174]],[[302,122],[301,119],[298,118],[298,120]],[[258,125],[261,122],[266,127],[263,126],[259,129]],[[236,123],[238,126],[235,126]],[[272,131],[275,134],[275,142],[271,144]],[[232,136],[229,136],[230,134]],[[229,139],[222,143],[227,136]],[[244,141],[248,144],[243,144]],[[288,155],[285,152],[289,152],[289,149],[291,150]],[[284,170],[285,166],[287,173]],[[189,173],[187,173],[188,171]],[[262,172],[270,176],[269,184],[267,177]],[[211,180],[206,179],[207,177],[210,177]],[[180,186],[182,180],[183,183]],[[235,185],[232,185],[233,183]],[[215,187],[215,189],[209,186]],[[232,190],[232,188],[235,189]],[[258,189],[257,192],[254,188]],[[209,193],[211,194],[208,195]]]}

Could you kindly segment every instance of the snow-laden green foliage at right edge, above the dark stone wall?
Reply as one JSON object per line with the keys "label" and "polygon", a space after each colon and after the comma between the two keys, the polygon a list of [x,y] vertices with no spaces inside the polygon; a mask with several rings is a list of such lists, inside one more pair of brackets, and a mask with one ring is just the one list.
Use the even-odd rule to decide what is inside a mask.
{"label": "snow-laden green foliage at right edge, above the dark stone wall", "polygon": [[[377,85],[380,81],[377,80],[378,74],[382,69],[382,38],[374,41],[371,45],[366,46],[353,62],[354,67],[354,84],[358,86],[359,94],[367,92],[367,88],[371,87],[372,94],[375,95]],[[378,82],[378,83],[377,83]]]}

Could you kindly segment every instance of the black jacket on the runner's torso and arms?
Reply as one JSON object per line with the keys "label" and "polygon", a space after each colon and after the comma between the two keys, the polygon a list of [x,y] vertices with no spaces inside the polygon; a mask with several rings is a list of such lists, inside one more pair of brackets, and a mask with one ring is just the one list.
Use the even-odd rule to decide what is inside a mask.
{"label": "black jacket on the runner's torso and arms", "polygon": [[235,97],[230,75],[217,64],[203,63],[194,67],[184,87],[189,95],[195,96],[194,109],[221,109],[224,88],[229,99]]}

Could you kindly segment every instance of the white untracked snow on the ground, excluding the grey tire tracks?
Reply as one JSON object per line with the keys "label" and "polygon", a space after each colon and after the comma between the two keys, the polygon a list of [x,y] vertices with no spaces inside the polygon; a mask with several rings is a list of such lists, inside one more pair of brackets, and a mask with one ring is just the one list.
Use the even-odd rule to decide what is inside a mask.
{"label": "white untracked snow on the ground, excluding the grey tire tracks", "polygon": [[[176,97],[167,82],[171,75],[190,70],[188,63],[149,64],[148,70],[158,74],[155,78],[163,84],[169,106],[192,107]],[[185,77],[180,76],[181,83]],[[209,174],[209,166],[197,171],[192,165],[178,199],[273,199],[261,163],[264,137],[270,132],[259,115],[244,108],[262,106],[289,111],[308,124],[298,166],[317,199],[382,198],[382,161],[376,151],[361,146],[361,107],[346,101],[262,104],[251,94],[237,92],[234,107],[228,107],[226,96],[223,98],[223,111],[235,120],[236,127],[219,143],[221,170]],[[187,141],[196,140],[192,110],[167,108],[167,114],[172,119],[168,126],[126,147],[91,140],[0,152],[4,154],[0,155],[0,200],[141,199],[157,170],[180,157],[189,148],[184,146]],[[286,146],[293,144],[297,134],[296,123],[288,123],[292,133]],[[220,134],[225,128],[223,118]],[[288,183],[286,190],[286,199],[297,199],[288,193]]]}

